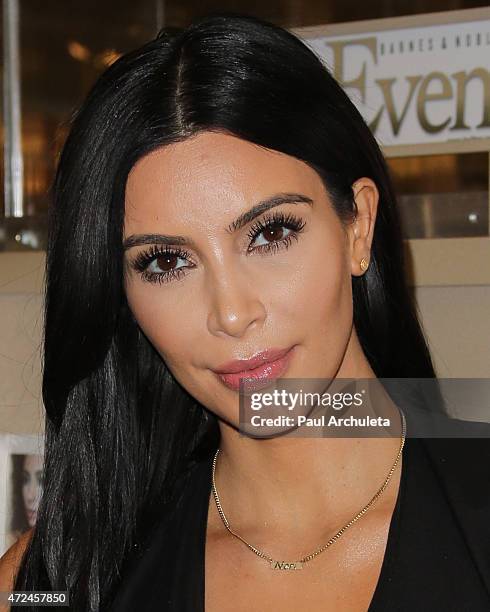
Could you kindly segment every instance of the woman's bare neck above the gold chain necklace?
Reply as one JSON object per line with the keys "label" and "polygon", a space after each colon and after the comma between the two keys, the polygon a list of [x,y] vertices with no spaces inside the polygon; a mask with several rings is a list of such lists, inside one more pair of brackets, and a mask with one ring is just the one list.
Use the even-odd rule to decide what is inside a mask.
{"label": "woman's bare neck above the gold chain necklace", "polygon": [[[401,419],[393,404],[390,416],[398,435],[382,438],[257,439],[220,422],[215,482],[232,529],[258,541],[265,533],[267,538],[287,533],[289,541],[304,541],[310,533],[317,543],[319,533],[335,533],[371,500],[395,462]],[[378,509],[391,507],[401,464],[402,457],[375,503]],[[210,504],[210,528],[221,531],[214,499]]]}

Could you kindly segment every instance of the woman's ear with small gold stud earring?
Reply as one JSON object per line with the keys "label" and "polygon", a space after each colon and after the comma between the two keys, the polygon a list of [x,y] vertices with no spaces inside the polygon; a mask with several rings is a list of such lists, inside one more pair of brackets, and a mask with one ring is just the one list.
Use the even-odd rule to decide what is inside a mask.
{"label": "woman's ear with small gold stud earring", "polygon": [[379,192],[370,178],[360,178],[352,185],[357,213],[354,221],[347,226],[349,233],[351,270],[354,276],[362,276],[367,270],[361,267],[364,258],[369,264],[374,224],[378,211]]}

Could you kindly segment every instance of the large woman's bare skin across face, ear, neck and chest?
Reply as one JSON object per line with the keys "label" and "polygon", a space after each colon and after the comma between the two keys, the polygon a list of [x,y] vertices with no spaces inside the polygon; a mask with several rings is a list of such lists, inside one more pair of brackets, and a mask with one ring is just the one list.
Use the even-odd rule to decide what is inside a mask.
{"label": "large woman's bare skin across face, ear, neck and chest", "polygon": [[[378,192],[362,177],[353,190],[358,215],[343,225],[307,164],[210,132],[150,153],[128,177],[124,238],[167,234],[192,241],[181,247],[186,257],[153,259],[147,268],[153,273],[162,274],[165,261],[181,269],[163,283],[131,266],[149,245],[128,248],[130,308],[175,378],[219,419],[216,481],[233,529],[278,559],[316,550],[356,515],[386,478],[399,438],[240,436],[238,393],[212,370],[294,346],[287,377],[375,378],[353,326],[351,276],[364,273],[361,258],[369,261]],[[257,219],[282,212],[299,217],[304,228],[288,248],[247,253],[267,243],[264,233],[248,235],[257,219],[234,233],[225,228],[277,194],[301,194],[311,203],[283,203]],[[271,571],[225,530],[210,497],[206,611],[366,610],[401,465],[375,506],[297,572]]]}

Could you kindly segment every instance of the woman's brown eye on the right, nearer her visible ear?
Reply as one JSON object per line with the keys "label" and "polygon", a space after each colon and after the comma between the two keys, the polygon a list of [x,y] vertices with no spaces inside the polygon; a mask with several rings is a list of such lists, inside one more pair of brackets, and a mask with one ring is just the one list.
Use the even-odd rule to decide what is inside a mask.
{"label": "woman's brown eye on the right, nearer her visible ear", "polygon": [[[263,242],[258,246],[249,246],[248,253],[269,253],[276,252],[278,249],[289,248],[291,242],[298,239],[302,232],[305,222],[292,214],[284,215],[282,212],[275,212],[264,220],[257,221],[248,233],[252,244],[263,234]],[[284,231],[286,229],[286,233]]]}

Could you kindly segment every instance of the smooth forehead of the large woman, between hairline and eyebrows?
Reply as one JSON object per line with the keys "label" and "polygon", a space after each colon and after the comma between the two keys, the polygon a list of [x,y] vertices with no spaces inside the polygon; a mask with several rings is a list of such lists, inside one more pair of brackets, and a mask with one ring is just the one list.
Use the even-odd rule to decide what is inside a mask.
{"label": "smooth forehead of the large woman, between hairline and eyebrows", "polygon": [[126,184],[126,223],[232,214],[277,192],[314,196],[321,180],[306,163],[236,136],[203,132],[141,158]]}

